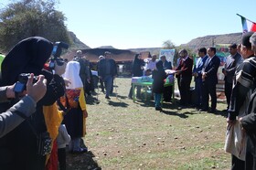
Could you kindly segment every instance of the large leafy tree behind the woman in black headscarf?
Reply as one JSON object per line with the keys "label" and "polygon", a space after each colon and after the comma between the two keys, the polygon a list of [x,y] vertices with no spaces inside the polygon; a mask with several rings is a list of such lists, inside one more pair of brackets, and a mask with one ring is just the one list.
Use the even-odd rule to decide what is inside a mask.
{"label": "large leafy tree behind the woman in black headscarf", "polygon": [[56,0],[20,0],[1,9],[1,49],[7,51],[18,41],[35,36],[69,43],[66,17],[55,9],[56,4]]}

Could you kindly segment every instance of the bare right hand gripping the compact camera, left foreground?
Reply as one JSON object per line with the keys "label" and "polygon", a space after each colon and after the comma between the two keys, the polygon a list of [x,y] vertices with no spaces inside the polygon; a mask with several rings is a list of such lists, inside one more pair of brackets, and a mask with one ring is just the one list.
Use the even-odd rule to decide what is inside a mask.
{"label": "bare right hand gripping the compact camera, left foreground", "polygon": [[31,73],[27,80],[27,95],[37,102],[42,99],[47,92],[47,80],[45,80],[45,76],[39,75],[37,82],[33,84],[33,79],[34,74]]}

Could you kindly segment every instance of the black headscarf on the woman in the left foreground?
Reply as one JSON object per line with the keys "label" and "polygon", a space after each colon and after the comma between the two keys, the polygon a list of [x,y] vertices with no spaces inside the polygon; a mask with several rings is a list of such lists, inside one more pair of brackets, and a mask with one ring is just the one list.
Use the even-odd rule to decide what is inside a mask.
{"label": "black headscarf on the woman in the left foreground", "polygon": [[2,62],[1,86],[14,84],[20,73],[39,75],[52,48],[53,44],[44,37],[28,37],[18,42]]}

